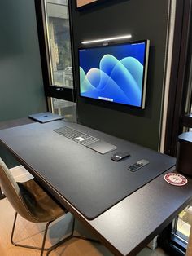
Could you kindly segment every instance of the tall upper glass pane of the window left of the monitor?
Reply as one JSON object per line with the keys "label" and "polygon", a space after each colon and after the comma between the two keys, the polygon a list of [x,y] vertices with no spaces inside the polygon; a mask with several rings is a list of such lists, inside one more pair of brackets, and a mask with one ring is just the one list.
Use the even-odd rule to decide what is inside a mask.
{"label": "tall upper glass pane of the window left of the monitor", "polygon": [[73,87],[68,0],[46,0],[52,84]]}

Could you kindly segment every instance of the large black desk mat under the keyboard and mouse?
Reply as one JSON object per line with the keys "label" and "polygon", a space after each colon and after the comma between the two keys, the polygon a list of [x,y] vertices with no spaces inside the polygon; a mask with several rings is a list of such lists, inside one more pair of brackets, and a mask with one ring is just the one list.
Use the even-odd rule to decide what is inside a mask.
{"label": "large black desk mat under the keyboard and mouse", "polygon": [[[175,165],[173,157],[77,126],[116,145],[116,151],[128,151],[131,155],[123,161],[111,161],[114,152],[101,155],[53,131],[61,126],[63,121],[0,130],[0,139],[85,218],[93,219],[103,214]],[[71,126],[76,128],[75,124]],[[141,159],[150,163],[136,172],[128,170]]]}

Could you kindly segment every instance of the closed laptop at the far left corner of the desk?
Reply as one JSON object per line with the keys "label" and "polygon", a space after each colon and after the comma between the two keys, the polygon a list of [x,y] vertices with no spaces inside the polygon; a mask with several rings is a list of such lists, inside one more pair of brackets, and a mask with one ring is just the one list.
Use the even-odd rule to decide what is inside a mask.
{"label": "closed laptop at the far left corner of the desk", "polygon": [[31,114],[28,117],[41,123],[46,123],[48,121],[56,121],[64,118],[63,116],[59,116],[58,114],[50,112]]}

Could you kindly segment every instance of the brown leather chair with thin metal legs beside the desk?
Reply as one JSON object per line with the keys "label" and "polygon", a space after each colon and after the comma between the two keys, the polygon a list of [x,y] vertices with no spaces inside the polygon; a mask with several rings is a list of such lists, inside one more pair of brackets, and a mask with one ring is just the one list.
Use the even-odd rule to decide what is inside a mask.
{"label": "brown leather chair with thin metal legs beside the desk", "polygon": [[[68,210],[62,209],[36,182],[31,179],[24,183],[16,183],[15,179],[11,175],[10,170],[0,157],[0,184],[4,194],[7,196],[8,201],[15,209],[15,220],[11,233],[11,242],[13,245],[22,246],[32,249],[41,249],[41,255],[44,250],[47,250],[49,254],[51,250],[55,249],[58,245],[67,241],[70,236],[63,241],[59,241],[56,245],[51,246],[49,249],[45,249],[46,233],[47,229],[55,219],[59,218],[63,214],[66,214]],[[15,230],[15,222],[17,214],[20,214],[23,218],[33,223],[47,223],[46,229],[42,241],[41,248],[33,247],[29,245],[15,244],[13,241],[13,235]]]}

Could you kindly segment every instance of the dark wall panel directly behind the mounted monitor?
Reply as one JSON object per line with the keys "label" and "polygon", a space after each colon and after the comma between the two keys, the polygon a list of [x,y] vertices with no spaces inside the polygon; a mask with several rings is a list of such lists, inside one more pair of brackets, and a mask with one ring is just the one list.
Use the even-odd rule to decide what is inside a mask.
{"label": "dark wall panel directly behind the mounted monitor", "polygon": [[[72,1],[76,74],[81,42],[132,34],[131,41],[150,40],[146,107],[107,105],[77,96],[78,121],[86,126],[158,149],[164,82],[164,55],[169,0],[107,1],[77,10]],[[76,75],[76,84],[78,85]],[[77,95],[80,95],[77,86]]]}

